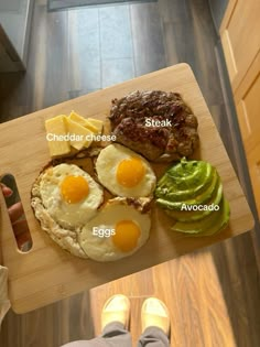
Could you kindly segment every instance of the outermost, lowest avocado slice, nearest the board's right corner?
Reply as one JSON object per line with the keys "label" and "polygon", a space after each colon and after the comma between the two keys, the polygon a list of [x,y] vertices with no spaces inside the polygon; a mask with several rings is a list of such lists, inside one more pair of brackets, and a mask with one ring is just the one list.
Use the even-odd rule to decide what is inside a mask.
{"label": "outermost, lowest avocado slice, nearest the board's right corner", "polygon": [[171,229],[192,236],[210,236],[223,230],[229,220],[230,207],[225,197],[221,198],[219,210],[212,213],[198,221],[177,221]]}

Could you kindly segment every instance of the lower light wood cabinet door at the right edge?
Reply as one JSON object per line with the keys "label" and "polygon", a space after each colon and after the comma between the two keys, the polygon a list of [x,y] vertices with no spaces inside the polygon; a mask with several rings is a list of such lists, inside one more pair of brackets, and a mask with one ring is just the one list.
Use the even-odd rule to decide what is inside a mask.
{"label": "lower light wood cabinet door at the right edge", "polygon": [[235,102],[260,216],[260,53],[237,88]]}

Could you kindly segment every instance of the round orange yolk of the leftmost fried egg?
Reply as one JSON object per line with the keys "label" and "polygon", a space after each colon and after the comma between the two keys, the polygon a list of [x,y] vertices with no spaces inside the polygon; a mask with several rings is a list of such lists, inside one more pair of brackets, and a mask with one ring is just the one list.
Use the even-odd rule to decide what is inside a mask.
{"label": "round orange yolk of the leftmost fried egg", "polygon": [[66,176],[61,184],[62,196],[68,204],[79,203],[88,192],[88,183],[82,176]]}

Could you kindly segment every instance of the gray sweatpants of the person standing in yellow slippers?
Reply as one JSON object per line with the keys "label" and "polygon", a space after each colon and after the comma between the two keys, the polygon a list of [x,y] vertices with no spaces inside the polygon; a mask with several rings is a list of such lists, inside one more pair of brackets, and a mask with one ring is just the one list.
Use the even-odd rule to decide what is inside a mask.
{"label": "gray sweatpants of the person standing in yellow slippers", "polygon": [[[62,347],[131,347],[132,339],[123,325],[118,322],[109,323],[101,336],[90,340],[78,340],[63,345]],[[149,327],[140,336],[138,347],[169,347],[169,338],[162,329]]]}

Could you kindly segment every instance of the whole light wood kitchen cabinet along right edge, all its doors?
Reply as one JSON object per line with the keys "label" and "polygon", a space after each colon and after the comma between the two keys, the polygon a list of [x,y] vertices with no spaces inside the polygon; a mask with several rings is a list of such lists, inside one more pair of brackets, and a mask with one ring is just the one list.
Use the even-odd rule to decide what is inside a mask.
{"label": "whole light wood kitchen cabinet along right edge, all its doors", "polygon": [[260,217],[260,1],[230,0],[219,33]]}

